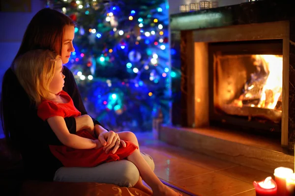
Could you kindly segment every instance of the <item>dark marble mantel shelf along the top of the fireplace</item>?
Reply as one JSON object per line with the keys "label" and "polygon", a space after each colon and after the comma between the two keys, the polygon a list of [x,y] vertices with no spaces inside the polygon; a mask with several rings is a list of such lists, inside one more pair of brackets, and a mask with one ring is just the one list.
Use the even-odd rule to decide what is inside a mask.
{"label": "dark marble mantel shelf along the top of the fireplace", "polygon": [[261,0],[170,16],[171,30],[196,30],[295,20],[294,0]]}

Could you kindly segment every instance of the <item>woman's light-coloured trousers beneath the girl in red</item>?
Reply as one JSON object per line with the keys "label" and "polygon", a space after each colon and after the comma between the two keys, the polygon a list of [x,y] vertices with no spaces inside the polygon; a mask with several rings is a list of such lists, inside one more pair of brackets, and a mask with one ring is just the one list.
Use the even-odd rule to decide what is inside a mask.
{"label": "woman's light-coloured trousers beneath the girl in red", "polygon": [[[152,158],[141,153],[154,170]],[[54,181],[59,182],[99,182],[115,184],[120,187],[133,187],[139,180],[139,171],[136,166],[127,160],[104,163],[93,168],[59,168],[54,176]]]}

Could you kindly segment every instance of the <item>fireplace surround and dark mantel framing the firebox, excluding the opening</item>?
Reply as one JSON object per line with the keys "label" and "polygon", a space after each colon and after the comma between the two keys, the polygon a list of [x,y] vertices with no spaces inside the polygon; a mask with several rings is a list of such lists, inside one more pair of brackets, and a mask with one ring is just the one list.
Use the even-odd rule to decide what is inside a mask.
{"label": "fireplace surround and dark mantel framing the firebox, excluding the opening", "polygon": [[[180,32],[181,118],[184,127],[209,125],[208,43],[283,40],[281,145],[295,144],[295,2],[262,0],[171,16],[171,33]],[[172,36],[172,39],[175,36]],[[177,37],[177,36],[176,36]],[[173,41],[173,40],[172,40]],[[173,66],[173,65],[172,65]],[[173,112],[173,111],[172,111]],[[178,112],[178,111],[177,111]]]}

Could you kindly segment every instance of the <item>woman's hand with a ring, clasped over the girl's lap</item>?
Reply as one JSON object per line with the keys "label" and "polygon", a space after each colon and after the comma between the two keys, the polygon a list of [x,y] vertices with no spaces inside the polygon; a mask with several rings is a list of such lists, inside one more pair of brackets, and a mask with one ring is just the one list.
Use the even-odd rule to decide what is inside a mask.
{"label": "woman's hand with a ring, clasped over the girl's lap", "polygon": [[108,154],[111,150],[112,153],[116,153],[120,145],[122,144],[123,147],[126,147],[126,143],[123,140],[120,140],[117,133],[114,131],[106,131],[102,132],[98,136],[98,140],[104,146],[103,150]]}

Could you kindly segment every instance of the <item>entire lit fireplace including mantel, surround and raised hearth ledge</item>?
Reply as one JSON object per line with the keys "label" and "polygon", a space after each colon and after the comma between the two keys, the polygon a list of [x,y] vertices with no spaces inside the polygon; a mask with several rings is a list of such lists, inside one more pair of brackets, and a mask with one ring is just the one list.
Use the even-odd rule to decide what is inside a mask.
{"label": "entire lit fireplace including mantel, surround and raised hearth ledge", "polygon": [[266,172],[294,167],[294,6],[262,0],[171,15],[181,78],[172,77],[179,96],[160,140]]}

